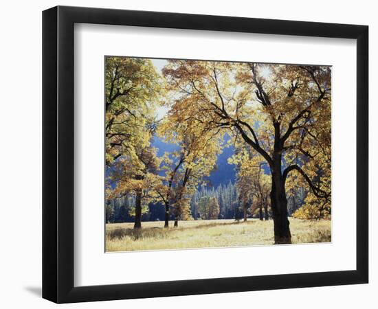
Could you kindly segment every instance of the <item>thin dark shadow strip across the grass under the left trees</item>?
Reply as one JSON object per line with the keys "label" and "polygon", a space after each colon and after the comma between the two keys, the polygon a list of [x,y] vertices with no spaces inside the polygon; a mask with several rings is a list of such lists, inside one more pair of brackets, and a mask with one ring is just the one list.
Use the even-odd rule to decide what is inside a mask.
{"label": "thin dark shadow strip across the grass under the left trees", "polygon": [[253,221],[247,221],[243,222],[240,221],[234,221],[234,222],[214,222],[214,223],[208,223],[203,225],[194,225],[192,227],[169,227],[168,229],[164,227],[146,227],[142,229],[128,229],[128,228],[116,228],[111,231],[107,231],[107,237],[110,240],[114,239],[122,239],[126,236],[129,236],[133,240],[138,240],[141,238],[152,238],[157,237],[159,238],[165,238],[168,236],[168,234],[172,231],[182,231],[182,230],[190,230],[190,229],[208,229],[211,227],[219,227],[219,226],[225,226],[225,225],[239,225],[239,224],[251,224]]}

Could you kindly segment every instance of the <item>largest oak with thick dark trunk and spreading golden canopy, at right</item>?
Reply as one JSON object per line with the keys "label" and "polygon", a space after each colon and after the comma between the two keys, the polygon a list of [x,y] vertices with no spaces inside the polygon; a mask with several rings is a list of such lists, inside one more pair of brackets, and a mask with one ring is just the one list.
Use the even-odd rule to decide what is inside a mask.
{"label": "largest oak with thick dark trunk and spreading golden canopy, at right", "polygon": [[274,240],[291,243],[289,174],[316,198],[331,199],[331,68],[170,60],[163,72],[178,122],[214,135],[227,130],[267,163]]}

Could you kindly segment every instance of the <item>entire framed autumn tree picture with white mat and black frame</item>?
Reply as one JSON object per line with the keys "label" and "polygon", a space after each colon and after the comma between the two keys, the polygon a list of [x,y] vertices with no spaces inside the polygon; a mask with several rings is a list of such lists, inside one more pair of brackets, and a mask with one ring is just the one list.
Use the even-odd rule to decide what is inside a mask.
{"label": "entire framed autumn tree picture with white mat and black frame", "polygon": [[368,26],[43,12],[43,297],[368,283]]}

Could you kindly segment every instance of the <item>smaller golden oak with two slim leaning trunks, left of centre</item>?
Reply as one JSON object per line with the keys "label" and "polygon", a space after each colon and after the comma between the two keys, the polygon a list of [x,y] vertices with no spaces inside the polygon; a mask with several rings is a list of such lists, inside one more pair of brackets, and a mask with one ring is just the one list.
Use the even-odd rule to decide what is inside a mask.
{"label": "smaller golden oak with two slim leaning trunks, left of centre", "polygon": [[170,111],[159,124],[158,134],[164,141],[175,144],[177,150],[166,153],[162,168],[166,179],[159,196],[165,205],[165,224],[168,227],[170,208],[178,221],[191,218],[190,200],[205,176],[209,176],[216,165],[216,157],[221,151],[221,139],[203,133],[193,121],[179,122],[177,113]]}

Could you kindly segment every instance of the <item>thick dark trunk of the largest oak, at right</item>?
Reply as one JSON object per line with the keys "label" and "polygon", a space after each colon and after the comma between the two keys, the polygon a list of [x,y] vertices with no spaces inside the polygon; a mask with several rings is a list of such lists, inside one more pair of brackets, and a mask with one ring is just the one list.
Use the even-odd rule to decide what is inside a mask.
{"label": "thick dark trunk of the largest oak, at right", "polygon": [[272,170],[271,174],[270,198],[274,220],[274,243],[291,244],[290,223],[287,219],[287,198],[281,172],[280,155],[274,160],[274,170]]}

